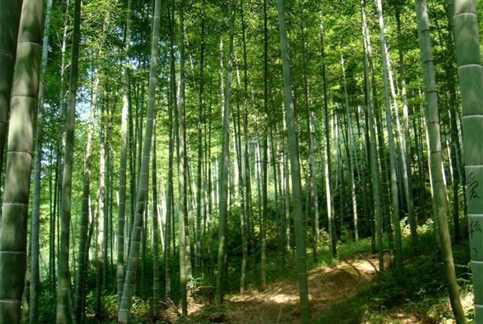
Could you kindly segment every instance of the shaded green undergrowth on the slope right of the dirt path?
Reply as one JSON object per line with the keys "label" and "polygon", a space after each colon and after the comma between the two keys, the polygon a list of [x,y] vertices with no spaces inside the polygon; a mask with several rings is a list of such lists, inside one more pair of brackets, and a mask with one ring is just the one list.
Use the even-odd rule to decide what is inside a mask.
{"label": "shaded green undergrowth on the slope right of the dirt path", "polygon": [[[404,270],[388,269],[333,305],[315,323],[453,323],[444,268],[432,231],[419,236],[420,250],[404,242]],[[351,244],[349,244],[350,246]],[[453,245],[457,280],[466,317],[473,320],[467,241]]]}

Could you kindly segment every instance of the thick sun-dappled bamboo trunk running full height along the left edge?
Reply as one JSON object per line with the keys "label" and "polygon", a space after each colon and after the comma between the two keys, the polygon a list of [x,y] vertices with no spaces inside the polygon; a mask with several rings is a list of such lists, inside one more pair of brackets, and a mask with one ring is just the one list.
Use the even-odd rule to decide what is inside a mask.
{"label": "thick sun-dappled bamboo trunk running full height along the left edge", "polygon": [[[5,4],[6,14],[12,9],[12,16],[3,17],[2,25],[11,23],[5,32],[16,34],[16,7]],[[34,112],[39,94],[39,61],[41,48],[41,26],[43,1],[23,1],[17,45],[17,59],[14,67],[14,83],[10,106],[10,128],[8,130],[7,165],[5,192],[3,194],[3,217],[0,228],[0,318],[5,323],[20,322],[20,306],[26,274],[27,219],[32,165]],[[10,29],[11,28],[11,29]],[[3,29],[1,30],[3,34]],[[8,39],[8,36],[6,37]],[[14,40],[17,39],[16,37]],[[2,43],[6,50],[13,48],[9,41]],[[3,49],[3,48],[2,48]],[[14,50],[10,51],[14,54]],[[2,56],[1,59],[4,59]],[[3,62],[1,62],[3,63]],[[6,64],[9,65],[9,64]],[[3,65],[0,65],[3,68]],[[11,81],[6,68],[6,81]],[[3,77],[3,75],[2,75]],[[3,83],[3,82],[2,82]],[[8,83],[10,87],[10,83]],[[2,89],[3,90],[3,89]],[[3,95],[0,100],[10,97]],[[3,108],[6,107],[1,107]],[[6,110],[7,111],[7,110]],[[2,123],[1,127],[6,127]],[[3,143],[3,141],[2,141]],[[1,145],[3,148],[3,145]],[[15,233],[12,235],[12,233]]]}

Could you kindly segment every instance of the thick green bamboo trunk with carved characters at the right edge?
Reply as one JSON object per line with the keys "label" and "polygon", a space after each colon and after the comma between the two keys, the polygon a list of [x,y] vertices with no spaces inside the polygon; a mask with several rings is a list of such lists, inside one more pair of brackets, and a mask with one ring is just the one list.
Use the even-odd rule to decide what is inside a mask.
{"label": "thick green bamboo trunk with carved characters at the right edge", "polygon": [[[483,321],[483,73],[480,61],[480,38],[478,35],[477,11],[473,0],[455,0],[454,9],[455,48],[460,77],[463,106],[464,169],[468,184],[468,223],[470,232],[471,264],[473,271],[473,292],[475,294],[475,320]],[[480,184],[480,185],[478,185]],[[452,304],[453,305],[453,304]],[[453,306],[453,310],[455,307]],[[454,312],[454,311],[453,311]],[[456,312],[457,319],[464,318]],[[462,320],[460,320],[462,321]],[[463,322],[462,322],[463,323]]]}

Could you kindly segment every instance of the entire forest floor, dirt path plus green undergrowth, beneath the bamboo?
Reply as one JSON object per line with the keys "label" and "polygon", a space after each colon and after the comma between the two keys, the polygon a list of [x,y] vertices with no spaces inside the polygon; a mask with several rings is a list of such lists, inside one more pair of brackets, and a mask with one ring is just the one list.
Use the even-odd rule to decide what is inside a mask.
{"label": "entire forest floor, dirt path plus green undergrowth, beneath the bamboo", "polygon": [[[408,235],[405,236],[402,272],[388,268],[388,252],[384,255],[386,270],[378,271],[379,262],[377,254],[371,253],[370,238],[357,243],[344,239],[337,247],[337,258],[333,258],[322,243],[317,263],[313,262],[312,254],[307,254],[312,323],[455,323],[440,249],[432,231],[420,232],[417,252],[413,251]],[[386,242],[384,247],[387,247]],[[467,239],[453,245],[453,256],[462,304],[466,318],[472,323],[473,292]],[[231,266],[236,268],[237,265],[233,260]],[[179,305],[175,303],[166,305],[159,317],[153,318],[152,300],[133,298],[132,323],[299,323],[295,264],[288,261],[284,265],[279,259],[268,262],[268,282],[264,290],[259,290],[258,277],[254,277],[253,272],[248,279],[251,284],[239,294],[239,272],[230,272],[226,280],[228,292],[220,307],[213,301],[213,290],[209,290],[205,297],[188,298],[188,318],[181,317]],[[213,289],[209,284],[206,288]],[[100,323],[115,323],[116,300],[115,294],[103,297],[105,321]],[[88,304],[93,305],[92,296],[88,298]],[[89,309],[92,310],[92,306]],[[51,312],[53,316],[55,307]],[[88,314],[89,323],[99,323],[95,321],[93,311]]]}

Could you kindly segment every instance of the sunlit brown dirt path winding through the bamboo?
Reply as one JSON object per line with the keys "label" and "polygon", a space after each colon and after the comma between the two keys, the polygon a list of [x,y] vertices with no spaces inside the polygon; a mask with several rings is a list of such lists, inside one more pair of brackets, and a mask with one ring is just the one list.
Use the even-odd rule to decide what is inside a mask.
{"label": "sunlit brown dirt path winding through the bamboo", "polygon": [[[317,267],[308,272],[308,298],[312,317],[320,315],[342,298],[354,294],[357,286],[371,281],[377,273],[377,257],[346,260],[335,267]],[[264,292],[249,290],[227,296],[228,323],[299,323],[297,281],[282,280]]]}

